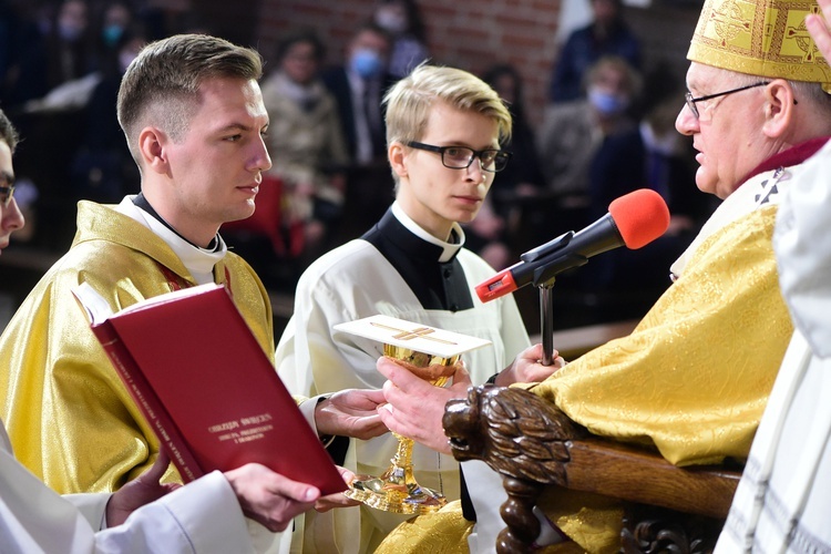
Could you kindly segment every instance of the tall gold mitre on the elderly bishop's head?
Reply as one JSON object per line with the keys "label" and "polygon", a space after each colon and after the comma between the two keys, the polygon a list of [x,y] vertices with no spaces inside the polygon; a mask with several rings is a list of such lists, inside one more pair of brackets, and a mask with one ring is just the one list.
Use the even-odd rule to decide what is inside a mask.
{"label": "tall gold mitre on the elderly bishop's head", "polygon": [[705,0],[687,59],[751,75],[823,83],[831,68],[806,28],[815,0]]}

